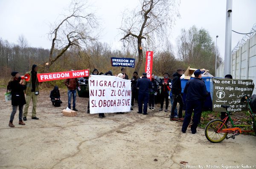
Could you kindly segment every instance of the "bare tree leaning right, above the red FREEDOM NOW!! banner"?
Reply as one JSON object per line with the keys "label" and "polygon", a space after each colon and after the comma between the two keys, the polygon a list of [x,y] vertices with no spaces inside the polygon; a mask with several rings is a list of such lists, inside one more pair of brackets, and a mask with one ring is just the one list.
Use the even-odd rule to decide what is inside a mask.
{"label": "bare tree leaning right, above the red FREEDOM NOW!! banner", "polygon": [[90,41],[97,39],[98,24],[95,15],[89,12],[89,7],[80,4],[77,0],[73,0],[71,6],[73,7],[69,10],[70,14],[52,26],[52,31],[49,33],[52,47],[48,68],[68,49],[80,52]]}

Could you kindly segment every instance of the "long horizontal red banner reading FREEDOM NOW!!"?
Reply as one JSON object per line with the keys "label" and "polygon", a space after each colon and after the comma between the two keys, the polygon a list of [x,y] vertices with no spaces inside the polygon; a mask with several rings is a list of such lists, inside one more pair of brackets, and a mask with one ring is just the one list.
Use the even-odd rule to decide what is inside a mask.
{"label": "long horizontal red banner reading FREEDOM NOW!!", "polygon": [[41,73],[37,74],[38,82],[71,79],[76,77],[87,77],[89,76],[89,70],[76,70],[68,72],[55,72],[55,73]]}

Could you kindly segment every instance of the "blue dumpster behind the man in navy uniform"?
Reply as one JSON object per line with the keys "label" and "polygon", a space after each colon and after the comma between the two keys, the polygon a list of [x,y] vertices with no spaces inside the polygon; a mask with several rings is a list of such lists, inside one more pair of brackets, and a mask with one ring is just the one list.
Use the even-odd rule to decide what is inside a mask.
{"label": "blue dumpster behind the man in navy uniform", "polygon": [[[193,79],[194,77],[191,77]],[[212,83],[212,77],[202,77],[204,79],[204,83],[207,89],[207,92],[210,93],[210,95],[206,98],[204,102],[204,110],[210,110],[212,111],[212,95],[213,95],[213,83]],[[181,88],[182,88],[182,93],[184,92],[184,88],[187,83],[187,79],[181,79]],[[183,102],[186,100],[186,94],[183,94]]]}

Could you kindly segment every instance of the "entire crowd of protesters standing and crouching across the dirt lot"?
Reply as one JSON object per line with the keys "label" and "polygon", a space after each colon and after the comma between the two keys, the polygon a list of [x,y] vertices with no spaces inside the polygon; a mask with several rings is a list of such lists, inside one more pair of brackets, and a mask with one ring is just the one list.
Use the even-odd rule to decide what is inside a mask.
{"label": "entire crowd of protesters standing and crouching across the dirt lot", "polygon": [[[15,127],[13,124],[15,113],[17,108],[19,108],[19,124],[25,125],[23,121],[26,121],[29,103],[32,100],[32,119],[38,120],[36,117],[36,107],[39,95],[39,82],[37,79],[38,66],[33,65],[32,70],[26,72],[29,74],[29,80],[22,80],[18,72],[12,72],[12,80],[9,82],[7,89],[11,91],[12,94],[12,113],[9,121],[10,127]],[[189,80],[186,83],[184,93],[186,94],[186,105],[185,105],[185,117],[183,118],[183,98],[181,95],[181,80],[184,70],[177,69],[177,72],[173,74],[173,79],[170,79],[168,73],[163,74],[163,79],[160,80],[159,87],[155,80],[154,74],[151,75],[151,80],[147,78],[147,74],[144,72],[142,77],[138,76],[138,72],[134,72],[133,77],[131,78],[131,110],[134,107],[134,100],[137,100],[138,103],[138,113],[147,115],[148,109],[154,110],[154,98],[157,95],[158,88],[161,89],[160,92],[160,109],[163,111],[164,101],[165,103],[165,112],[168,112],[169,106],[169,97],[172,104],[170,120],[180,120],[183,121],[182,132],[185,133],[187,127],[189,126],[192,112],[194,111],[193,124],[191,126],[192,134],[196,133],[196,128],[201,118],[203,103],[205,98],[208,95],[206,86],[201,80],[201,70],[196,70],[194,72],[195,78]],[[105,74],[100,72],[97,69],[94,69],[92,72],[93,75],[107,75],[113,76],[111,71],[106,72]],[[121,73],[116,75],[117,77],[128,80],[128,75],[126,74],[125,68],[121,69]],[[84,82],[88,82],[88,79],[84,79]],[[76,109],[76,89],[80,89],[80,85],[77,78],[71,78],[64,81],[64,84],[67,86],[68,93],[68,108],[71,109],[71,98],[73,97],[73,110]],[[88,86],[88,85],[87,85]],[[89,87],[89,86],[88,86]],[[26,93],[26,97],[24,92]],[[50,93],[50,98],[52,105],[60,106],[62,101],[60,100],[60,92],[58,86],[55,86]],[[177,103],[179,103],[179,111],[177,112]],[[24,106],[25,105],[25,106]],[[143,106],[144,105],[144,106]],[[24,109],[23,109],[24,106]],[[148,107],[149,106],[149,107]],[[90,113],[90,101],[88,102],[87,113]],[[104,113],[99,113],[100,118],[104,118]]]}

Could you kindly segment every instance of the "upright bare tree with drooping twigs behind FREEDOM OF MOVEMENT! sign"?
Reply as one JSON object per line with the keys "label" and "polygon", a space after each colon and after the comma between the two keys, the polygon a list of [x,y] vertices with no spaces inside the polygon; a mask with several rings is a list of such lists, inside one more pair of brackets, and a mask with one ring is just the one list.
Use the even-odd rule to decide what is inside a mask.
{"label": "upright bare tree with drooping twigs behind FREEDOM OF MOVEMENT! sign", "polygon": [[176,0],[140,0],[140,8],[123,15],[122,39],[125,44],[134,47],[138,52],[138,71],[143,60],[143,39],[145,45],[153,45],[157,40],[168,36],[168,29],[178,16]]}

